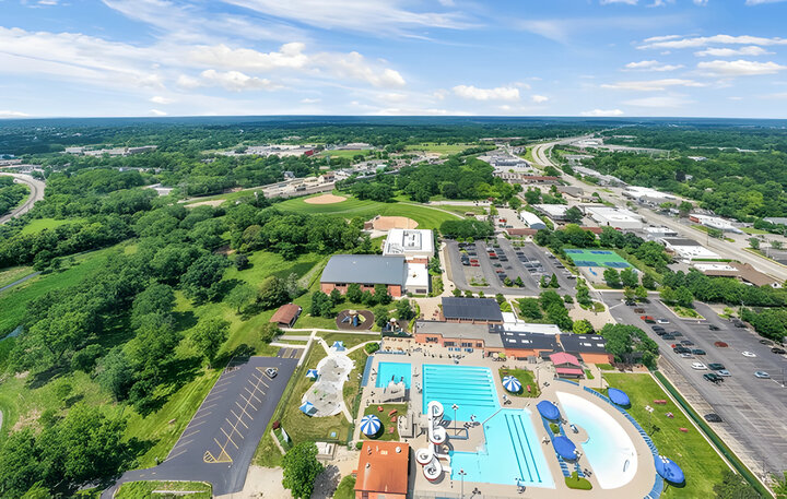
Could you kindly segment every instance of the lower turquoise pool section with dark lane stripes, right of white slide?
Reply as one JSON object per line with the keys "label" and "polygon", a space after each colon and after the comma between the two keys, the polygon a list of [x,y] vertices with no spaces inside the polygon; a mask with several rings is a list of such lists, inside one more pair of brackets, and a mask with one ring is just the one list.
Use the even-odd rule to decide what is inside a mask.
{"label": "lower turquoise pool section with dark lane stripes, right of white slide", "polygon": [[485,445],[478,452],[450,452],[451,478],[466,482],[554,488],[530,412],[501,409],[483,427]]}

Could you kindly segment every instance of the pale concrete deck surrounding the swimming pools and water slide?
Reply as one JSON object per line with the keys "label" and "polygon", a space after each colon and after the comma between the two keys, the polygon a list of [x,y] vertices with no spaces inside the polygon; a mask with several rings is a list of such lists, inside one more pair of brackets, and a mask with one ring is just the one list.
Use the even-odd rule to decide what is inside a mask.
{"label": "pale concrete deck surrounding the swimming pools and water slide", "polygon": [[[414,413],[413,418],[416,425],[420,421],[423,421],[422,426],[425,426],[425,416],[422,416],[422,393],[419,391],[419,388],[422,384],[421,366],[423,364],[454,365],[454,358],[449,358],[448,354],[456,355],[456,353],[449,353],[447,348],[437,345],[420,345],[406,338],[386,338],[383,345],[383,351],[386,349],[400,351],[404,354],[386,354],[379,352],[375,355],[372,366],[372,375],[369,377],[367,385],[363,389],[362,403],[361,407],[359,408],[359,414],[356,416],[359,418],[362,417],[366,407],[380,403],[379,396],[383,392],[383,389],[375,387],[375,372],[377,371],[377,364],[380,361],[401,361],[411,364],[412,369],[412,388],[410,390],[410,400],[408,401],[409,412],[411,414]],[[500,403],[501,407],[515,409],[528,408],[530,411],[530,419],[533,428],[536,429],[536,435],[539,439],[539,445],[541,445],[541,450],[543,451],[547,459],[549,472],[555,483],[555,488],[539,488],[535,486],[528,486],[524,492],[520,492],[514,485],[466,482],[466,497],[519,497],[533,499],[554,499],[555,492],[557,492],[559,497],[561,498],[569,498],[576,496],[587,499],[641,499],[646,497],[650,492],[656,478],[656,470],[653,463],[653,454],[650,452],[650,449],[639,436],[636,428],[634,428],[632,424],[616,408],[607,404],[601,399],[590,393],[587,393],[579,385],[555,380],[554,370],[551,363],[539,361],[537,364],[528,364],[526,361],[515,361],[512,359],[508,359],[506,361],[495,361],[492,358],[483,357],[481,351],[475,351],[473,353],[462,353],[459,355],[462,356],[459,359],[459,365],[461,366],[488,367],[492,370],[492,373],[494,375],[493,379],[495,381],[495,389],[498,396],[497,402]],[[541,396],[539,396],[538,399],[508,396],[507,400],[510,401],[510,403],[504,405],[503,395],[507,392],[503,389],[500,376],[497,373],[498,369],[503,367],[535,370],[537,372],[537,379],[541,388]],[[594,380],[583,380],[580,382],[588,388],[606,388],[600,385],[600,383],[602,383],[602,380],[599,373],[596,373],[595,376],[596,379]],[[555,393],[557,391],[573,393],[592,401],[595,404],[599,405],[608,414],[610,414],[614,418],[614,420],[618,421],[629,433],[632,441],[634,442],[638,463],[637,473],[627,485],[616,489],[601,489],[598,485],[598,482],[596,482],[595,473],[588,478],[594,486],[592,490],[574,491],[565,485],[563,479],[563,472],[561,471],[557,458],[555,456],[554,450],[552,449],[552,444],[543,443],[543,440],[548,438],[548,433],[541,421],[541,416],[536,409],[536,404],[542,400],[557,402],[557,395]],[[560,407],[560,404],[557,404],[557,406]],[[450,407],[445,407],[445,409],[446,414],[450,418]],[[461,430],[463,430],[463,423],[465,421],[459,421],[459,428]],[[480,445],[484,443],[484,433],[481,423],[482,421],[477,421],[474,425],[470,424],[470,427],[467,429],[467,439],[459,440],[450,438],[454,435],[454,425],[453,421],[449,421],[447,427],[448,442],[445,444],[444,450],[474,452]],[[572,439],[572,441],[577,444],[577,448],[582,449],[580,442],[586,440],[587,437],[585,431],[583,429],[579,429],[579,433],[575,435],[571,432],[571,430],[568,430],[567,428],[566,430],[568,431],[568,437]],[[360,440],[360,429],[357,426],[355,428],[354,439]],[[425,432],[422,432],[420,430],[415,431],[415,436],[413,438],[402,438],[401,440],[408,442],[412,449],[424,448],[428,443]],[[447,463],[444,462],[444,464]],[[585,455],[579,459],[579,465],[582,468],[588,468],[592,472],[592,466],[590,466]],[[569,466],[569,470],[573,470],[573,466]],[[410,483],[414,498],[458,498],[460,496],[461,484],[459,480],[451,479],[450,475],[448,473],[445,473],[444,476],[437,482],[428,482],[423,476],[422,467],[418,463],[415,463],[414,459],[411,459],[410,475]],[[473,490],[479,491],[480,496],[478,494],[472,495]]]}

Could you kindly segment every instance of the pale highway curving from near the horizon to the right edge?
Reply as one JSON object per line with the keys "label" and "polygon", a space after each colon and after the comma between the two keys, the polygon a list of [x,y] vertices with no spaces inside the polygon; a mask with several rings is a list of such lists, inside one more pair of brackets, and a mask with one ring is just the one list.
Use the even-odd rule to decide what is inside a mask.
{"label": "pale highway curving from near the horizon to the right edge", "polygon": [[[533,158],[536,159],[536,163],[541,166],[555,166],[554,163],[552,163],[552,159],[549,158],[549,152],[552,147],[554,147],[556,144],[564,144],[573,142],[575,140],[585,139],[587,136],[589,135],[537,144],[533,146],[532,150]],[[588,187],[587,183],[566,174],[563,174],[563,179],[567,181],[571,186],[582,187],[584,189],[587,189]],[[609,201],[618,206],[625,205],[626,200],[623,199],[623,189],[616,187],[606,187],[606,189],[611,191],[611,193],[604,192],[600,189],[596,191],[601,195],[602,200]],[[739,238],[738,240],[736,240],[736,242],[728,242],[720,239],[708,238],[706,236],[703,236],[697,230],[691,228],[690,226],[677,222],[674,218],[660,215],[642,206],[637,211],[637,214],[642,215],[649,224],[663,225],[671,228],[672,230],[676,230],[681,237],[686,237],[689,239],[702,242],[708,249],[715,251],[723,258],[729,258],[732,260],[738,260],[742,263],[749,263],[750,265],[753,265],[757,270],[765,272],[766,274],[770,274],[779,281],[787,281],[787,266],[745,251],[744,248],[747,243],[744,242],[744,238]]]}

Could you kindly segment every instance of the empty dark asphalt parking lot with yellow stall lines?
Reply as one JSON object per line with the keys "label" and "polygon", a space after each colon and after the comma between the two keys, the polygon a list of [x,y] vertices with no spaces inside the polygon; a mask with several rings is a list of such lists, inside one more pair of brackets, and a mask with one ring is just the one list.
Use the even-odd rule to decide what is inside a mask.
{"label": "empty dark asphalt parking lot with yellow stall lines", "polygon": [[[102,492],[102,499],[111,498],[121,483],[152,479],[209,482],[214,496],[240,491],[297,361],[291,354],[291,358],[250,357],[231,364],[166,460],[155,467],[126,472]],[[275,368],[278,375],[271,379],[267,368]]]}

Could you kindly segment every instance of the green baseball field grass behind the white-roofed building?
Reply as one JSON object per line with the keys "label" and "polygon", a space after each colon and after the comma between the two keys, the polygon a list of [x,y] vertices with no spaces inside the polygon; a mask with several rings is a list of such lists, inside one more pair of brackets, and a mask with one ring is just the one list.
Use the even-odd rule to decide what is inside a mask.
{"label": "green baseball field grass behind the white-roofed building", "polygon": [[[345,195],[345,194],[342,194]],[[308,198],[295,198],[282,201],[277,204],[281,211],[296,213],[322,213],[339,214],[348,218],[361,216],[371,219],[375,215],[406,216],[419,223],[418,228],[437,229],[441,224],[448,219],[456,219],[457,216],[435,207],[410,203],[379,203],[377,201],[359,200],[348,198],[345,201],[336,204],[308,204]]]}

